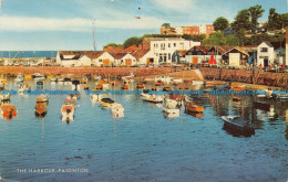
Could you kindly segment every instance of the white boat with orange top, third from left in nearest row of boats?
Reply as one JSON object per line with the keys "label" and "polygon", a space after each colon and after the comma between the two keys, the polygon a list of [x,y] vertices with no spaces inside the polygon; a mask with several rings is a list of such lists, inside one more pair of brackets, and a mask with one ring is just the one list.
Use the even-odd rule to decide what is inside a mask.
{"label": "white boat with orange top, third from left in nearest row of boats", "polygon": [[73,121],[75,108],[75,100],[66,98],[61,107],[62,121]]}

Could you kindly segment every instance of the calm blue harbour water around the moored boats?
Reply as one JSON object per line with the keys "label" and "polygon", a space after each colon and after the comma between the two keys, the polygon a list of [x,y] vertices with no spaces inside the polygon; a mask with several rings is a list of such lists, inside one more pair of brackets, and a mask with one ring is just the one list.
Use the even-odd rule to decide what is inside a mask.
{"label": "calm blue harbour water around the moored boats", "polygon": [[[45,88],[71,89],[49,81]],[[17,89],[12,81],[8,89]],[[74,121],[66,124],[60,118],[64,95],[50,96],[44,118],[34,116],[35,97],[11,96],[18,117],[0,120],[3,181],[287,181],[285,103],[258,107],[251,96],[233,101],[232,96],[204,94],[193,96],[204,107],[203,117],[182,108],[179,117],[168,119],[160,105],[119,95],[116,101],[124,106],[125,116],[112,118],[110,110],[91,103],[82,86]],[[225,130],[220,118],[225,115],[251,120],[256,133],[238,136]]]}

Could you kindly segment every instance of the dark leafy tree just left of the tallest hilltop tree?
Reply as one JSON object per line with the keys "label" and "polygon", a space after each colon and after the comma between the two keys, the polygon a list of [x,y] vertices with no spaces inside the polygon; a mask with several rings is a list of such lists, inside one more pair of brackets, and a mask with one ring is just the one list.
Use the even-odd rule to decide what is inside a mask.
{"label": "dark leafy tree just left of the tallest hilltop tree", "polygon": [[236,32],[239,32],[241,29],[246,31],[250,30],[251,21],[249,10],[245,9],[239,11],[235,18],[235,21],[232,23],[232,26]]}

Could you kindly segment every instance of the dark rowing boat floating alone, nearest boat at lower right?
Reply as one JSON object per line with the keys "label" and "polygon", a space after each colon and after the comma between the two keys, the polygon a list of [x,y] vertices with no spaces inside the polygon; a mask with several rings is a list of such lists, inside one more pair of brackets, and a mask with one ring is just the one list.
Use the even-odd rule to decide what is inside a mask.
{"label": "dark rowing boat floating alone, nearest boat at lower right", "polygon": [[243,117],[239,116],[223,116],[222,119],[224,120],[225,127],[230,129],[241,131],[241,132],[249,132],[255,133],[255,128],[246,122]]}

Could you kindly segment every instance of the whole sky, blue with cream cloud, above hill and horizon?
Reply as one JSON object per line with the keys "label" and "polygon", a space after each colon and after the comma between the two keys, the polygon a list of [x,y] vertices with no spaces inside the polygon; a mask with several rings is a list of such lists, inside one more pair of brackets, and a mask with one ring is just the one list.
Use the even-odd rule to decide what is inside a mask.
{"label": "whole sky, blue with cream cloud, above hill and horizon", "polygon": [[[93,50],[127,38],[160,33],[172,26],[234,21],[239,10],[260,4],[267,21],[270,8],[288,12],[288,0],[0,0],[0,51]],[[141,10],[138,8],[141,7]],[[141,17],[136,19],[135,17]]]}

